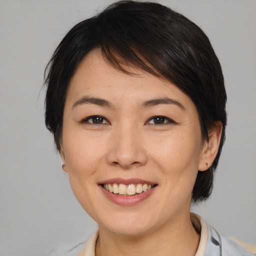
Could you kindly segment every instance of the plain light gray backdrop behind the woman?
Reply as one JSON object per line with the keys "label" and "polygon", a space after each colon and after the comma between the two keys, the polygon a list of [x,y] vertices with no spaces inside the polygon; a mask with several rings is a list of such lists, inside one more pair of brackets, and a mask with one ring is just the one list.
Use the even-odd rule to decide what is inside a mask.
{"label": "plain light gray backdrop behind the woman", "polygon": [[[76,22],[109,0],[0,0],[0,255],[43,256],[87,239],[44,127],[43,70]],[[227,139],[211,198],[192,206],[222,233],[256,243],[256,1],[162,0],[197,23],[222,64]]]}

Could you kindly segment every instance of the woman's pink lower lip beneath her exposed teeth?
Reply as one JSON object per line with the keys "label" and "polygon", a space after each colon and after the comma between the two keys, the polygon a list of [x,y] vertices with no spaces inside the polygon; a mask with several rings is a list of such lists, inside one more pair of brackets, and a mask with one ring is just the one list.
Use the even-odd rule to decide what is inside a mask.
{"label": "woman's pink lower lip beneath her exposed teeth", "polygon": [[154,189],[157,187],[157,186],[153,186],[151,189],[149,189],[145,192],[139,193],[139,194],[118,195],[118,194],[114,194],[112,192],[107,191],[101,185],[98,185],[98,186],[109,200],[113,201],[116,204],[123,205],[123,206],[132,206],[132,205],[135,205],[135,204],[145,200],[152,194]]}

